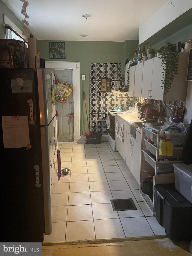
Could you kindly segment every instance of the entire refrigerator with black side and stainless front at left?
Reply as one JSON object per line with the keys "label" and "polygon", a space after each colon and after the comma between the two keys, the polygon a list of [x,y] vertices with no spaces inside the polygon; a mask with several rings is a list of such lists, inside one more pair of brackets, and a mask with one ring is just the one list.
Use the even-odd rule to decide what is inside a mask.
{"label": "entire refrigerator with black side and stainless front at left", "polygon": [[54,74],[0,68],[0,79],[0,242],[43,242],[57,164]]}

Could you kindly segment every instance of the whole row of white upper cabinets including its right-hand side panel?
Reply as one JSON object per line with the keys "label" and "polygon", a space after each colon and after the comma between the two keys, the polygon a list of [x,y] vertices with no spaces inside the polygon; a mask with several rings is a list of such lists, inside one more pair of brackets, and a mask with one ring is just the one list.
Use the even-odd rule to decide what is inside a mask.
{"label": "whole row of white upper cabinets including its right-hand side panel", "polygon": [[[134,77],[134,96],[152,98],[161,101],[185,101],[188,84],[186,81],[187,62],[188,53],[179,53],[178,74],[175,75],[175,79],[167,95],[164,94],[164,90],[161,87],[163,85],[161,81],[163,80],[163,67],[161,66],[161,59],[155,57],[136,65]],[[130,74],[130,78],[131,76],[133,76],[133,74]]]}

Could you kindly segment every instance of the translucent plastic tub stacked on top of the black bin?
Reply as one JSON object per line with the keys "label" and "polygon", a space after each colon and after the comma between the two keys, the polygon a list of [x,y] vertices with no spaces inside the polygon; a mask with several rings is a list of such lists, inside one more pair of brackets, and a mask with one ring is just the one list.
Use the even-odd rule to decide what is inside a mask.
{"label": "translucent plastic tub stacked on top of the black bin", "polygon": [[192,164],[174,163],[175,188],[192,203]]}

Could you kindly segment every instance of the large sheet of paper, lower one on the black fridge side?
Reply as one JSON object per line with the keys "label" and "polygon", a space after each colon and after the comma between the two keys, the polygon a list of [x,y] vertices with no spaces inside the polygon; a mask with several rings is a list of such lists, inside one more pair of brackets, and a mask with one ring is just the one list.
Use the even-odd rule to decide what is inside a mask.
{"label": "large sheet of paper, lower one on the black fridge side", "polygon": [[28,148],[28,116],[2,116],[4,148]]}

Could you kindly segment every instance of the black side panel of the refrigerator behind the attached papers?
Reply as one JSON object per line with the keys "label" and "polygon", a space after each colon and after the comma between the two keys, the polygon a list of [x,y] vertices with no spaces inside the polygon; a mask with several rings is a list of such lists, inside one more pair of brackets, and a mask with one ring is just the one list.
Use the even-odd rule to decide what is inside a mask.
{"label": "black side panel of the refrigerator behind the attached papers", "polygon": [[[44,236],[43,181],[37,72],[33,69],[0,69],[1,116],[28,116],[30,149],[4,148],[0,118],[1,242],[42,242]],[[30,81],[29,92],[13,92],[11,80]],[[28,100],[33,101],[33,113]],[[31,104],[30,104],[31,105]],[[39,166],[39,177],[34,168]],[[41,184],[36,186],[36,178]]]}

